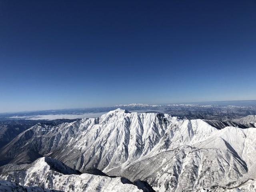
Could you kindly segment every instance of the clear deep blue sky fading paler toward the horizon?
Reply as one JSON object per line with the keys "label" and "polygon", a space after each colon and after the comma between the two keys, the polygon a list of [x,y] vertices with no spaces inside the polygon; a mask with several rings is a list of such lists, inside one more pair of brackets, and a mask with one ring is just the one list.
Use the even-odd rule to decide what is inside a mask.
{"label": "clear deep blue sky fading paler toward the horizon", "polygon": [[253,99],[255,0],[0,0],[0,112]]}

